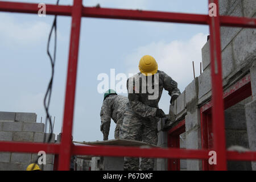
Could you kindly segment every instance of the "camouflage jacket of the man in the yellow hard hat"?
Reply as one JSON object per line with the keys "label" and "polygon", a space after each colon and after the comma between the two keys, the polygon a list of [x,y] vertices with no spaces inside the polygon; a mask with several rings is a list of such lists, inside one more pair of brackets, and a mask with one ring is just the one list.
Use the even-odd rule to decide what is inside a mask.
{"label": "camouflage jacket of the man in the yellow hard hat", "polygon": [[[152,83],[148,84],[148,79],[151,79]],[[158,78],[158,81],[155,81],[154,78]],[[143,79],[146,79],[146,84],[143,83]],[[145,80],[144,80],[145,81]],[[138,84],[139,83],[139,84]],[[148,86],[151,85],[154,92],[148,92]],[[155,90],[158,88],[158,94],[155,94]],[[143,92],[143,89],[146,92]],[[180,95],[180,90],[177,88],[177,82],[172,80],[163,71],[158,71],[152,76],[144,76],[142,73],[137,73],[133,77],[130,77],[127,80],[127,90],[129,98],[129,108],[139,117],[143,118],[152,118],[156,115],[156,109],[158,108],[158,102],[162,96],[163,89],[169,92],[170,96]],[[156,95],[154,99],[149,99],[149,96]]]}

